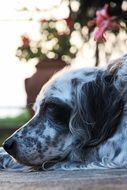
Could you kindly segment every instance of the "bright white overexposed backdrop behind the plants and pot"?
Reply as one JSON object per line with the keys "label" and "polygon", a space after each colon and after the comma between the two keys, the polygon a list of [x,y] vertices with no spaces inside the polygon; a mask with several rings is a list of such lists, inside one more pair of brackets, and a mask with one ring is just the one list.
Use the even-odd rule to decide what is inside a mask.
{"label": "bright white overexposed backdrop behind the plants and pot", "polygon": [[[61,17],[64,17],[64,14],[68,14],[68,9],[63,4],[63,7],[60,7],[57,11],[52,11],[50,14],[42,12],[42,15],[40,15],[40,13],[38,14],[34,11],[36,5],[40,7],[43,5],[45,8],[48,8],[53,4],[59,4],[60,0],[38,0],[36,4],[35,1],[25,0],[4,0],[0,2],[0,116],[11,116],[16,114],[17,111],[15,109],[4,108],[25,106],[26,94],[24,90],[24,79],[35,72],[35,62],[21,63],[15,57],[16,48],[20,45],[20,36],[27,33],[32,39],[39,38],[39,25],[37,22],[39,17],[50,17],[52,15],[56,17],[61,15]],[[23,3],[30,9],[29,12],[24,12],[23,14],[22,12],[15,11],[15,8],[20,9]],[[28,21],[30,17],[33,17],[33,21]],[[78,43],[79,38],[75,36],[74,41]],[[111,41],[112,45],[110,44]],[[127,36],[125,32],[121,32],[117,39],[112,34],[107,35],[105,45],[109,53],[112,51],[110,59],[117,58],[126,53]],[[94,52],[95,42],[91,39],[89,44],[82,45],[78,58],[75,61],[77,67],[80,65],[93,66]],[[103,47],[100,47],[101,65],[106,63],[103,52]]]}

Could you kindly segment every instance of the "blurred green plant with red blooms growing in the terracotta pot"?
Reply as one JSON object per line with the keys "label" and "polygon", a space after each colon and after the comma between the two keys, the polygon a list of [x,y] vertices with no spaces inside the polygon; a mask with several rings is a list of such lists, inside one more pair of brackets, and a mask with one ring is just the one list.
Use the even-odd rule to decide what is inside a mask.
{"label": "blurred green plant with red blooms growing in the terracotta pot", "polygon": [[[62,27],[63,30],[59,30]],[[76,47],[71,45],[71,32],[66,20],[40,21],[40,39],[33,41],[27,35],[22,37],[22,45],[17,49],[17,57],[28,61],[32,58],[63,59],[74,58]]]}

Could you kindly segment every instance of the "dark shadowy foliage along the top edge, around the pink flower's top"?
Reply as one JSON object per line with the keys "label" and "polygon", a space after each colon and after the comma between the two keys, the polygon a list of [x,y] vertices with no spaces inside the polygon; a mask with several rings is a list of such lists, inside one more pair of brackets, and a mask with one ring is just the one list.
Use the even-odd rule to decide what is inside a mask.
{"label": "dark shadowy foliage along the top edge, around the pink flower's top", "polygon": [[[108,14],[110,16],[117,16],[119,21],[122,21],[127,26],[127,0],[76,0],[80,3],[79,10],[72,12],[74,22],[79,22],[81,26],[87,25],[89,20],[96,17],[96,11],[102,9],[108,4]],[[69,0],[70,4],[73,0]],[[125,6],[124,6],[125,5]]]}

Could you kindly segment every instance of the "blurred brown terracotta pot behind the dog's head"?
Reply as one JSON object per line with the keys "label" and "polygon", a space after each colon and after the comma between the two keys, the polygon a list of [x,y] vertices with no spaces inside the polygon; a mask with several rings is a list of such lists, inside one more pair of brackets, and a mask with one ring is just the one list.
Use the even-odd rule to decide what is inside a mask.
{"label": "blurred brown terracotta pot behind the dog's head", "polygon": [[25,90],[27,94],[27,108],[31,117],[34,115],[32,110],[33,103],[41,90],[42,86],[57,71],[66,66],[62,60],[43,60],[36,65],[36,72],[25,79]]}

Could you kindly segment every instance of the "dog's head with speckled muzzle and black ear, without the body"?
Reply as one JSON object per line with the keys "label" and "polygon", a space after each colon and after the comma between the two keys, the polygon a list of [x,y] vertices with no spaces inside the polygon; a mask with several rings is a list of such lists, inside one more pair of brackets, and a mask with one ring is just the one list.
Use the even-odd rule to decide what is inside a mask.
{"label": "dog's head with speckled muzzle and black ear, without the body", "polygon": [[121,97],[104,71],[64,70],[41,90],[35,116],[5,143],[20,163],[40,166],[45,161],[82,161],[85,150],[110,137],[118,126]]}

